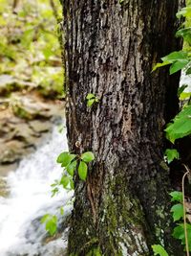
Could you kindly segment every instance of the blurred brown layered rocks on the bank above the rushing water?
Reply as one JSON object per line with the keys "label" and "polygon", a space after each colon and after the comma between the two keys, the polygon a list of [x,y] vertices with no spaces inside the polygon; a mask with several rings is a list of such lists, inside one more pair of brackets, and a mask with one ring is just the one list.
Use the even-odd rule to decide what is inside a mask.
{"label": "blurred brown layered rocks on the bank above the rushing water", "polygon": [[11,164],[32,153],[53,122],[64,116],[63,105],[32,93],[14,92],[11,98],[0,98],[1,102],[6,105],[0,107],[0,176],[9,172]]}

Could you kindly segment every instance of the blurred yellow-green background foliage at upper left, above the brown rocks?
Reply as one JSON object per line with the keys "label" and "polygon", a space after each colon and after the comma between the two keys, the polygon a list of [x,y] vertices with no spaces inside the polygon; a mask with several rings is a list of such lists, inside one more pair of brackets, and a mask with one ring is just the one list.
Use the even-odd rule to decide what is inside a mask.
{"label": "blurred yellow-green background foliage at upper left, above the brown rocks", "polygon": [[[55,0],[58,15],[59,1]],[[62,94],[63,71],[57,39],[57,20],[50,0],[0,0],[0,75],[55,97]]]}

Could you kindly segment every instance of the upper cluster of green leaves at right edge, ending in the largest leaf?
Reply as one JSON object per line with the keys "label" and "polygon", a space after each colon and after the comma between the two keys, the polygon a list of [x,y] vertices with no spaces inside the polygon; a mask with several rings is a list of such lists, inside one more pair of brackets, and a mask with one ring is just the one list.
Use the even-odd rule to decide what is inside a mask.
{"label": "upper cluster of green leaves at right edge, ending in the largest leaf", "polygon": [[[186,75],[191,74],[191,27],[188,27],[188,23],[191,19],[191,5],[186,6],[177,13],[177,16],[186,17],[186,21],[182,24],[180,30],[177,32],[177,36],[180,36],[184,40],[183,51],[173,52],[163,58],[162,62],[154,66],[153,71],[157,68],[170,65],[170,74],[174,74],[183,69]],[[180,101],[185,101],[191,96],[190,91],[184,91],[187,88],[187,84],[184,84],[178,95]],[[171,121],[165,128],[166,137],[172,143],[175,143],[177,139],[183,138],[191,134],[191,105],[189,101],[184,104],[180,113]]]}

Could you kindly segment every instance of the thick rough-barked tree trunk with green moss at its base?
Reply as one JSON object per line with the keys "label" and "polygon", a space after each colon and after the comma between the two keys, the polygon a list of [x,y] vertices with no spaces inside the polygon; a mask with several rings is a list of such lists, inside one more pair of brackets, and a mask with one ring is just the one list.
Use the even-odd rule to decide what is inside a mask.
{"label": "thick rough-barked tree trunk with green moss at its base", "polygon": [[[179,77],[168,69],[151,73],[178,49],[179,3],[63,2],[69,147],[96,155],[87,181],[75,177],[69,255],[153,255],[151,244],[164,244],[180,256],[162,160],[162,130],[176,109]],[[88,107],[88,93],[99,103]]]}

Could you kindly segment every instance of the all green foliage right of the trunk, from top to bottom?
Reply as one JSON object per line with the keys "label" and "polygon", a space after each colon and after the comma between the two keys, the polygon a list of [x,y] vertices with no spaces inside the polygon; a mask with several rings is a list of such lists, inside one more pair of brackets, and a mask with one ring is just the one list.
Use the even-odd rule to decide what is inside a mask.
{"label": "all green foliage right of the trunk, from top to bottom", "polygon": [[[170,75],[182,70],[186,75],[191,74],[191,3],[181,9],[177,13],[177,17],[185,17],[185,21],[177,32],[177,37],[182,37],[184,42],[184,47],[182,51],[173,52],[169,55],[161,58],[162,62],[157,63],[153,71],[159,67],[170,65],[169,73]],[[185,91],[186,90],[186,91]],[[175,143],[177,139],[189,136],[191,134],[191,105],[190,97],[191,91],[188,84],[183,84],[179,91],[178,96],[180,101],[183,103],[183,107],[180,112],[175,116],[175,118],[167,125],[165,128],[166,138],[171,142]],[[168,163],[171,163],[174,159],[179,159],[179,152],[175,149],[165,151],[165,157]],[[186,173],[187,174],[187,173]],[[185,202],[184,202],[184,189],[183,184],[184,179],[182,179],[182,192],[174,191],[170,194],[171,201],[175,204],[171,207],[171,213],[173,221],[176,223],[176,227],[173,231],[173,237],[180,240],[181,244],[185,246],[185,249],[191,251],[191,224],[187,223],[190,221],[190,217],[185,213]],[[186,230],[184,230],[184,228]],[[187,232],[186,232],[187,231]],[[187,235],[185,235],[187,233]],[[186,238],[187,243],[186,243]],[[187,246],[188,245],[188,246]],[[163,249],[161,245],[152,246],[155,255],[166,256],[167,252]]]}

